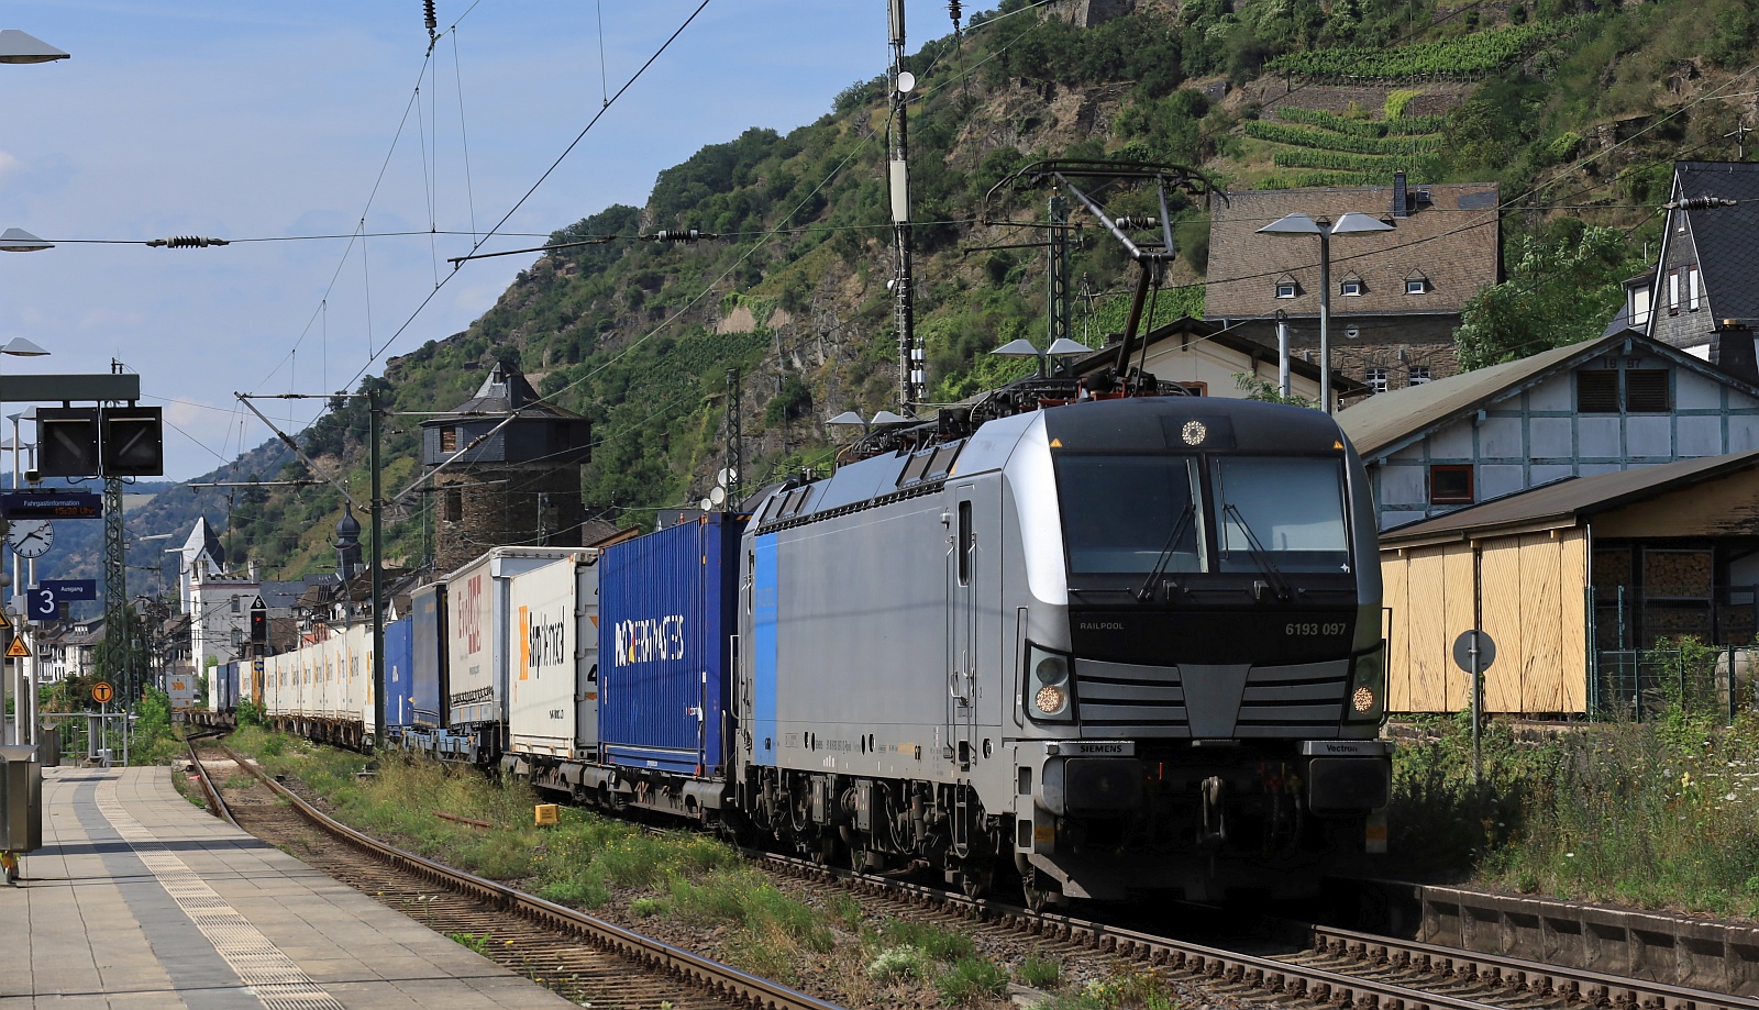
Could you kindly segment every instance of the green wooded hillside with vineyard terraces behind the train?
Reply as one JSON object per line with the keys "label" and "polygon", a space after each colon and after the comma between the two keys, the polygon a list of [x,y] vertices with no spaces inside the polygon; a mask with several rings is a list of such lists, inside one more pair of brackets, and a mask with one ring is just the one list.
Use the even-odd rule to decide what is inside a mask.
{"label": "green wooded hillside with vineyard terraces behind the train", "polygon": [[[927,25],[915,14],[918,37]],[[1724,134],[1755,111],[1752,88],[1736,86],[1755,35],[1759,18],[1740,0],[1006,0],[908,62],[920,81],[909,135],[929,396],[1010,377],[1024,366],[987,352],[1043,333],[1043,253],[1029,248],[1043,231],[1027,225],[1050,194],[985,202],[997,179],[1041,157],[1177,162],[1230,188],[1384,183],[1395,169],[1497,181],[1511,266],[1553,262],[1546,255],[1576,248],[1585,227],[1615,229],[1609,252],[1594,246],[1594,271],[1567,278],[1604,310],[1580,324],[1597,329],[1611,313],[1606,278],[1655,238],[1671,160],[1734,157]],[[368,382],[398,410],[440,410],[475,391],[485,362],[515,361],[593,419],[588,509],[626,523],[702,494],[719,466],[730,370],[748,479],[827,466],[821,419],[895,406],[885,77],[827,102],[823,118],[788,134],[749,128],[705,146],[660,172],[642,208],[558,229],[551,245],[612,241],[536,257],[468,331]],[[1133,199],[1108,209],[1152,211]],[[1201,311],[1207,271],[1233,269],[1208,262],[1200,206],[1171,209],[1180,259],[1156,296],[1161,318]],[[718,238],[637,239],[658,229]],[[1082,236],[1073,326],[1098,345],[1122,320],[1131,274],[1091,220]],[[1539,273],[1504,292],[1514,318],[1544,289]],[[364,486],[364,428],[352,401],[304,440],[322,466]],[[413,419],[389,428],[385,487],[401,489],[417,477]],[[303,470],[281,473],[281,463],[234,470]],[[332,489],[248,491],[230,507],[229,553],[287,577],[329,563]],[[426,498],[390,519],[387,558],[420,563]]]}

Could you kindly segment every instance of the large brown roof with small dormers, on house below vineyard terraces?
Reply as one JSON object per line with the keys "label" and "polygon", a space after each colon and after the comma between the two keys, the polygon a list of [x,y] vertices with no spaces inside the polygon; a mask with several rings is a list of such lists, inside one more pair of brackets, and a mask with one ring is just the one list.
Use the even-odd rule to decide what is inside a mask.
{"label": "large brown roof with small dormers, on house below vineyard terraces", "polygon": [[[1332,239],[1333,315],[1448,315],[1458,313],[1478,289],[1497,282],[1497,185],[1411,185],[1427,192],[1404,218],[1391,218],[1393,187],[1339,187],[1314,190],[1251,190],[1210,197],[1210,259],[1203,315],[1208,318],[1263,317],[1286,310],[1296,318],[1319,315],[1319,241],[1258,234],[1291,213],[1337,218],[1365,213],[1395,222],[1390,232]],[[1428,294],[1407,296],[1405,278],[1421,273]],[[1346,276],[1363,282],[1363,294],[1342,297]],[[1300,294],[1275,297],[1277,282],[1293,278]]]}

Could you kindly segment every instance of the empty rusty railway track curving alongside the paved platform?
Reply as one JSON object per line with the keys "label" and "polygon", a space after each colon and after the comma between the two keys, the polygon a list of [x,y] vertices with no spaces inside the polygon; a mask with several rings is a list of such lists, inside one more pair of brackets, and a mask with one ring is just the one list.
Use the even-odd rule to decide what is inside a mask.
{"label": "empty rusty railway track curving alongside the paved platform", "polygon": [[[253,778],[216,785],[201,748]],[[675,1010],[837,1010],[804,992],[383,845],[311,808],[218,744],[192,739],[211,809],[310,866],[575,1003]],[[338,841],[345,845],[336,845]]]}

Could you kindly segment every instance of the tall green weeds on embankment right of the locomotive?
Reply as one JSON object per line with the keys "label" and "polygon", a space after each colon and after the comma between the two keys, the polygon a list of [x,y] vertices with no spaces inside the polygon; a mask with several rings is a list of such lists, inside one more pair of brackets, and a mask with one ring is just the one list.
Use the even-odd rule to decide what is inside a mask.
{"label": "tall green weeds on embankment right of the locomotive", "polygon": [[1759,917],[1759,716],[1724,725],[1680,702],[1662,684],[1652,721],[1546,739],[1492,723],[1478,787],[1471,723],[1428,723],[1397,750],[1395,859],[1523,894]]}

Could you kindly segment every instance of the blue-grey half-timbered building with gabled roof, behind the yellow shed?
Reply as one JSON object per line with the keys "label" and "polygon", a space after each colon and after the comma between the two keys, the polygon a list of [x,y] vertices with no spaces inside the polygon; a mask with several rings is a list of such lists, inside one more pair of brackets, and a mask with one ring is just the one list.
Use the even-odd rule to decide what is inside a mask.
{"label": "blue-grey half-timbered building with gabled roof, behind the yellow shed", "polygon": [[1567,477],[1759,449],[1759,384],[1636,331],[1339,412],[1381,530]]}

